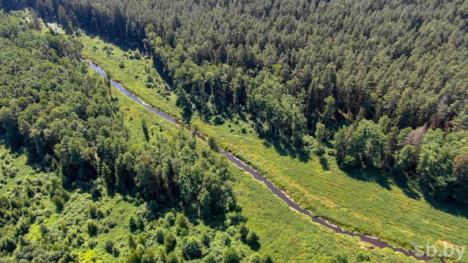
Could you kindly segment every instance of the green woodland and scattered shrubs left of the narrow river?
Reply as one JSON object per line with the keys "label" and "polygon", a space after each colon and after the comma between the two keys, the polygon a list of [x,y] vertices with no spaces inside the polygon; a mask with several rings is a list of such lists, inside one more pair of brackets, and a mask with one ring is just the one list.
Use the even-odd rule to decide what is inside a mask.
{"label": "green woodland and scattered shrubs left of the narrow river", "polygon": [[[29,12],[0,12],[0,87],[2,262],[79,262],[96,247],[118,262],[239,262],[258,250],[227,161],[144,118],[135,138],[133,116],[74,38]],[[127,238],[99,238],[114,229]]]}

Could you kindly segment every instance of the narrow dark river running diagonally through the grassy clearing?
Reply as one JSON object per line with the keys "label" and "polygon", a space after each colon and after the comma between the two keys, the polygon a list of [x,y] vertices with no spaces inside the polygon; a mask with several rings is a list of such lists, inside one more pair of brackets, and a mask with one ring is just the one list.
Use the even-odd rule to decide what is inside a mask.
{"label": "narrow dark river running diagonally through the grassy clearing", "polygon": [[[99,73],[100,75],[105,77],[105,72],[103,71],[102,68],[92,64],[91,62],[87,62],[87,63],[92,69],[94,69],[94,71],[96,71],[97,73]],[[126,90],[122,86],[122,84],[120,84],[118,82],[114,82],[114,81],[111,81],[111,84],[112,84],[112,86],[118,88],[118,90],[120,90],[125,96],[129,97],[130,99],[133,99],[133,101],[136,101],[140,105],[143,105],[144,108],[146,108],[148,110],[151,110],[151,112],[154,112],[155,114],[161,116],[162,118],[166,119],[167,121],[170,121],[172,123],[176,123],[177,125],[181,124],[180,121],[176,120],[175,118],[172,118],[171,116],[169,116],[167,114],[164,114],[164,112],[160,112],[159,110],[151,107],[147,103],[144,103],[144,101],[142,101],[142,99],[136,97],[135,95],[131,94],[131,92]],[[206,140],[205,136],[203,136],[202,134],[200,134],[198,132],[197,132],[196,136],[198,138],[200,138],[201,140],[203,140],[203,141]],[[298,203],[294,203],[294,201],[290,197],[288,197],[285,192],[283,192],[282,190],[280,190],[279,188],[274,186],[274,184],[271,181],[269,181],[265,177],[261,176],[259,173],[257,173],[257,171],[250,168],[247,164],[244,164],[244,162],[242,162],[239,159],[235,158],[234,155],[232,155],[231,153],[228,153],[228,152],[226,152],[226,151],[224,151],[222,149],[220,149],[220,153],[225,155],[226,158],[228,158],[228,160],[231,161],[233,164],[235,164],[239,168],[242,168],[247,173],[250,173],[255,179],[265,183],[265,185],[268,187],[268,189],[270,189],[274,193],[274,195],[281,198],[283,201],[285,201],[287,203],[287,205],[289,205],[289,208],[294,209],[294,210],[300,212],[301,214],[309,216],[312,219],[313,222],[318,223],[320,225],[323,225],[324,227],[326,227],[328,229],[332,229],[333,231],[335,231],[338,234],[343,234],[343,235],[347,235],[347,236],[357,236],[357,237],[361,238],[361,240],[363,242],[369,243],[370,245],[372,245],[374,247],[378,247],[380,249],[389,248],[389,249],[391,249],[393,251],[401,252],[404,255],[408,256],[408,257],[413,257],[413,258],[416,258],[417,260],[424,260],[425,262],[428,262],[431,259],[430,257],[428,257],[426,255],[420,256],[420,255],[417,255],[413,251],[407,251],[407,250],[404,250],[402,248],[392,247],[391,245],[388,245],[387,243],[383,242],[382,240],[380,240],[378,238],[375,238],[375,237],[372,237],[372,236],[358,234],[358,233],[354,233],[352,231],[345,231],[345,230],[341,229],[340,227],[337,227],[336,225],[332,225],[332,224],[328,223],[326,220],[324,220],[322,218],[313,216],[309,210],[304,210],[304,209],[300,208],[300,205]]]}

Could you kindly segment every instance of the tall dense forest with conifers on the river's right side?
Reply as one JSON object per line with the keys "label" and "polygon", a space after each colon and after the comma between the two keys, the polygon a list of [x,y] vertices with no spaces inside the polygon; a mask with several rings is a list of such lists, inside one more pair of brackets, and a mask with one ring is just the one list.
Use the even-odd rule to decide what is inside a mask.
{"label": "tall dense forest with conifers on the river's right side", "polygon": [[466,1],[1,4],[138,47],[188,116],[247,116],[298,149],[333,148],[343,169],[467,205]]}

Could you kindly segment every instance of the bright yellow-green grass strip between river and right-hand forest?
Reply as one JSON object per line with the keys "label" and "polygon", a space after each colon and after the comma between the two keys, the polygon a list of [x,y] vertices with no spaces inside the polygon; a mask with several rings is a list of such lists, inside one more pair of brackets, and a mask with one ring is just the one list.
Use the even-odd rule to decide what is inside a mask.
{"label": "bright yellow-green grass strip between river and right-hand forest", "polygon": [[[118,59],[123,51],[99,38],[83,37],[83,43],[83,55],[112,73],[131,92],[172,116],[180,116],[173,97],[161,98],[157,90],[144,86],[142,77],[135,79],[135,72],[142,72],[144,65],[152,64],[151,60],[125,60],[126,66],[121,69]],[[105,46],[114,48],[109,58],[103,52]],[[404,189],[380,173],[349,175],[337,167],[333,158],[327,158],[328,168],[325,169],[314,155],[302,162],[260,139],[250,125],[242,121],[210,125],[194,116],[193,123],[203,134],[216,136],[222,147],[257,168],[304,208],[346,229],[372,234],[406,249],[426,242],[434,245],[442,245],[444,241],[454,245],[467,242],[468,219],[465,216],[438,210],[422,197],[408,197]],[[245,134],[242,129],[246,130]]]}

